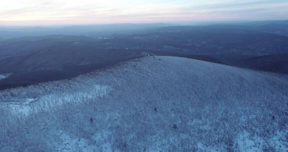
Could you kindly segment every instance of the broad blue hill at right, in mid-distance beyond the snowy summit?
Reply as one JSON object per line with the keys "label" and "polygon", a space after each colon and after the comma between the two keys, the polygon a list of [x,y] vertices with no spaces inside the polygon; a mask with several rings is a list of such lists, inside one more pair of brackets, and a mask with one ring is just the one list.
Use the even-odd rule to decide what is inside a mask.
{"label": "broad blue hill at right, in mid-distance beyond the snowy summit", "polygon": [[225,26],[167,26],[141,34],[103,39],[102,47],[184,51],[202,54],[266,55],[288,51],[288,37]]}

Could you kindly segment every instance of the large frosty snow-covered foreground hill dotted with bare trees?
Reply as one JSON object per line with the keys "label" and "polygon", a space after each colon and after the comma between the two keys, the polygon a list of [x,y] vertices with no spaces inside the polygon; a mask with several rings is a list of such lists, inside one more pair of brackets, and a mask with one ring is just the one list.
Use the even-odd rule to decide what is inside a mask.
{"label": "large frosty snow-covered foreground hill dotted with bare trees", "polygon": [[[35,98],[26,104],[13,99]],[[288,77],[134,59],[0,91],[0,151],[286,151]]]}

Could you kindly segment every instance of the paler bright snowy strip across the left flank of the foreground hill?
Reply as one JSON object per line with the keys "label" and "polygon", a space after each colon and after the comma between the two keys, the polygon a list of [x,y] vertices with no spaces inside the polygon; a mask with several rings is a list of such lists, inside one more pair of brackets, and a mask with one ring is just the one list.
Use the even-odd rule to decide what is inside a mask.
{"label": "paler bright snowy strip across the left flank of the foreground hill", "polygon": [[[14,98],[0,100],[0,105],[5,104],[15,115],[27,116],[35,114],[38,110],[49,110],[51,108],[61,107],[62,104],[75,102],[74,104],[81,103],[82,99],[93,99],[95,97],[103,96],[108,92],[107,86],[100,86],[93,84],[89,90],[79,89],[74,92],[57,92],[50,94],[38,95],[36,98]],[[34,102],[36,102],[34,104]]]}

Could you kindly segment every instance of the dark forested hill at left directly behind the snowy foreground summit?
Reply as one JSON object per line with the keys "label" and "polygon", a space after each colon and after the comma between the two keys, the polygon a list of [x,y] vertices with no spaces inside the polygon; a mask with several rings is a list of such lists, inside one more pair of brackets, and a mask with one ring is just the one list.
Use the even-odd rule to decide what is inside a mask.
{"label": "dark forested hill at left directly behind the snowy foreground summit", "polygon": [[219,62],[205,55],[147,49],[101,47],[87,36],[46,35],[0,41],[0,89],[70,78],[132,58],[175,55]]}

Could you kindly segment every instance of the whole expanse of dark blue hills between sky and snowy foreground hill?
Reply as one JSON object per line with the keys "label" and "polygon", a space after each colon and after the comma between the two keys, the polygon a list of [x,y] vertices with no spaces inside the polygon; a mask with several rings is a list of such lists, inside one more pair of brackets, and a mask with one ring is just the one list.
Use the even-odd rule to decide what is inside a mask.
{"label": "whole expanse of dark blue hills between sky and snowy foreground hill", "polygon": [[[285,24],[267,21],[204,26],[157,23],[0,27],[4,32],[25,32],[24,37],[0,40],[0,74],[11,73],[0,80],[0,89],[70,78],[148,55],[181,56],[288,73],[283,60],[283,54],[288,52],[288,36],[264,31],[272,27],[285,30]],[[30,32],[43,35],[31,36]]]}

